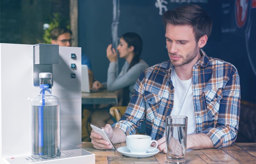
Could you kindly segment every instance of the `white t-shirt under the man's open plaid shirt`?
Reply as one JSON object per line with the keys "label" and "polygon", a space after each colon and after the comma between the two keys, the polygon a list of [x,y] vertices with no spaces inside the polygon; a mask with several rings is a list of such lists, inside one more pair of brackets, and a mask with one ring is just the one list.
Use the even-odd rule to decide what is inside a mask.
{"label": "white t-shirt under the man's open plaid shirt", "polygon": [[187,134],[193,134],[196,131],[196,119],[192,77],[189,80],[180,80],[175,70],[173,70],[171,80],[174,87],[174,103],[171,116],[187,116]]}

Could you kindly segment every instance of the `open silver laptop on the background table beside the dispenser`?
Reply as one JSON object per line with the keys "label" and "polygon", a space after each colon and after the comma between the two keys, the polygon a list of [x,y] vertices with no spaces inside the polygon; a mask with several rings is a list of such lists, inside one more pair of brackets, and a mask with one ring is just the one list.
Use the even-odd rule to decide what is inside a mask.
{"label": "open silver laptop on the background table beside the dispenser", "polygon": [[86,93],[92,93],[92,92],[100,92],[101,89],[90,89],[90,85],[89,85],[89,73],[88,73],[88,66],[87,65],[81,65],[82,69],[81,69],[81,90],[82,92],[86,92]]}

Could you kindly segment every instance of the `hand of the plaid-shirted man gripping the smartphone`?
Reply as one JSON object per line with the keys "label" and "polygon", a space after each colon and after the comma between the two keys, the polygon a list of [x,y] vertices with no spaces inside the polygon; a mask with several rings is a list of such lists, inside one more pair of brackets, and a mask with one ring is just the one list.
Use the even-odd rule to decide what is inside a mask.
{"label": "hand of the plaid-shirted man gripping the smartphone", "polygon": [[[104,130],[108,134],[108,137],[112,140],[113,138],[113,129],[111,125],[107,124],[104,127]],[[102,139],[102,136],[99,135],[98,133],[95,133],[94,130],[91,131],[91,143],[94,145],[94,148],[99,149],[99,150],[106,150],[106,149],[111,149],[112,146],[110,143],[106,140]]]}

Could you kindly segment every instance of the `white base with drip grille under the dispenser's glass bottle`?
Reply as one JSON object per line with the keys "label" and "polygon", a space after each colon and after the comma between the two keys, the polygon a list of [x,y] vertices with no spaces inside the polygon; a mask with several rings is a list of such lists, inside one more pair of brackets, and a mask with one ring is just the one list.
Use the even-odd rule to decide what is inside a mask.
{"label": "white base with drip grille under the dispenser's glass bottle", "polygon": [[[0,159],[1,160],[1,159]],[[95,164],[95,154],[83,149],[64,150],[60,157],[52,159],[34,159],[31,156],[2,158],[5,164]]]}

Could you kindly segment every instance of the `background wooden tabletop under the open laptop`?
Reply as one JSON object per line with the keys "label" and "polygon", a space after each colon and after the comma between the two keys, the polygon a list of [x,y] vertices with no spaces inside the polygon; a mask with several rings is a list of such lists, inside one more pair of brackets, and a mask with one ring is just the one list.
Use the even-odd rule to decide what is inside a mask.
{"label": "background wooden tabletop under the open laptop", "polygon": [[117,104],[117,96],[115,92],[106,90],[93,93],[82,92],[82,104]]}

